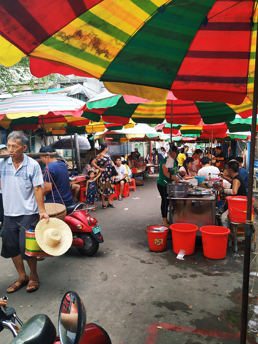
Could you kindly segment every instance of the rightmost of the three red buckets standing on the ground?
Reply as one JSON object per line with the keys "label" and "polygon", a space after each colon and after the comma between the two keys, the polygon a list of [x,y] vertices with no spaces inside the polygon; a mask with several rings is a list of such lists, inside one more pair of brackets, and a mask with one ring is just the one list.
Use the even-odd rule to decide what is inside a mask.
{"label": "rightmost of the three red buckets standing on the ground", "polygon": [[221,226],[200,227],[203,254],[210,259],[223,259],[227,253],[230,229]]}

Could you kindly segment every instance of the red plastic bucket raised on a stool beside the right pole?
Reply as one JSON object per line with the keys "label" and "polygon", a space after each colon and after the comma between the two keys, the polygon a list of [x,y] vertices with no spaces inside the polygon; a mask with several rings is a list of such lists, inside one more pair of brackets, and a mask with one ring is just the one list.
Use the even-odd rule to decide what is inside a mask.
{"label": "red plastic bucket raised on a stool beside the right pole", "polygon": [[[227,196],[228,216],[230,221],[246,223],[247,219],[247,197],[246,196]],[[254,198],[252,199],[252,209]],[[254,215],[254,210],[253,210]]]}

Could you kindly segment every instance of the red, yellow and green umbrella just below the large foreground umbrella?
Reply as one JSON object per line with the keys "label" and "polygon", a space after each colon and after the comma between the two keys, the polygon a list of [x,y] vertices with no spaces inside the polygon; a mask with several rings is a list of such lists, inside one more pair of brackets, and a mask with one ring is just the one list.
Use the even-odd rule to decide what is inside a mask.
{"label": "red, yellow and green umbrella just below the large foreground umbrella", "polygon": [[[234,121],[237,115],[247,118],[252,115],[252,103],[248,97],[240,105],[217,102],[193,102],[167,99],[165,102],[127,103],[126,96],[103,92],[86,103],[85,116],[98,113],[103,121],[128,123],[161,123],[166,118],[174,124],[198,125]],[[128,100],[127,100],[128,101]],[[134,100],[134,101],[137,101]]]}

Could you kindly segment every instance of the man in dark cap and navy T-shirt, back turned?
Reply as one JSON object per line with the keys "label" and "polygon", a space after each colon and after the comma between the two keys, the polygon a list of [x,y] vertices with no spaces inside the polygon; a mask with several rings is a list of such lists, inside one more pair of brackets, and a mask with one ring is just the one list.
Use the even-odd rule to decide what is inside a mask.
{"label": "man in dark cap and navy T-shirt, back turned", "polygon": [[[39,152],[53,153],[54,149],[50,146],[44,146],[40,148]],[[71,206],[74,201],[70,190],[69,174],[66,165],[64,162],[57,160],[55,156],[47,155],[40,158],[48,166],[48,171],[47,166],[43,170],[45,203],[56,202],[63,204],[64,202],[65,206]]]}

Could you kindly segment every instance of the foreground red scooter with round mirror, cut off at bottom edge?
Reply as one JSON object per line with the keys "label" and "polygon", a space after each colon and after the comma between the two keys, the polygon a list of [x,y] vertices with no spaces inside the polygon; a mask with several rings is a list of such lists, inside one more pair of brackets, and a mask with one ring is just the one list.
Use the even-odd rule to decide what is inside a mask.
{"label": "foreground red scooter with round mirror, cut off at bottom edge", "polygon": [[[7,298],[4,296],[3,298]],[[9,329],[13,340],[10,344],[112,344],[107,332],[97,324],[86,324],[86,311],[78,294],[67,291],[59,311],[59,336],[45,314],[37,314],[24,324],[12,307],[0,307],[0,331]],[[20,329],[15,324],[15,320]]]}

